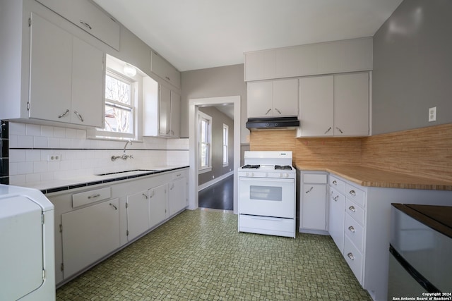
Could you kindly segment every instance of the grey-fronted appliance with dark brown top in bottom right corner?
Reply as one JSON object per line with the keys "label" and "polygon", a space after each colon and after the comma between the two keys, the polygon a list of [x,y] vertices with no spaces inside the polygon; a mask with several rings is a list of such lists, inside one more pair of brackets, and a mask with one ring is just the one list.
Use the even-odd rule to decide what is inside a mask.
{"label": "grey-fronted appliance with dark brown top in bottom right corner", "polygon": [[388,300],[451,300],[452,207],[392,204],[389,252]]}

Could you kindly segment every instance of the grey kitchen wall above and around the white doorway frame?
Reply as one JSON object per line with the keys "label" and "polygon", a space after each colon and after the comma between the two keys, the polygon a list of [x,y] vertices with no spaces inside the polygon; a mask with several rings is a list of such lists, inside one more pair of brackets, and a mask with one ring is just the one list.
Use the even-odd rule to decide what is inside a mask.
{"label": "grey kitchen wall above and around the white doorway frame", "polygon": [[[246,142],[246,83],[244,64],[182,72],[181,137],[189,137],[189,99],[239,95],[241,106],[241,141]],[[237,116],[234,116],[237,118]]]}

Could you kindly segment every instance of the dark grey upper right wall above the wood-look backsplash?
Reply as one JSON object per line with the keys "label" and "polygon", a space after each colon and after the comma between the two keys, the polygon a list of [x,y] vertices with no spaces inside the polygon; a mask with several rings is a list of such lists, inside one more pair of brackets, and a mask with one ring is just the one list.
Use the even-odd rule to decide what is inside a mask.
{"label": "dark grey upper right wall above the wood-look backsplash", "polygon": [[374,35],[373,135],[452,123],[451,16],[451,0],[405,0]]}

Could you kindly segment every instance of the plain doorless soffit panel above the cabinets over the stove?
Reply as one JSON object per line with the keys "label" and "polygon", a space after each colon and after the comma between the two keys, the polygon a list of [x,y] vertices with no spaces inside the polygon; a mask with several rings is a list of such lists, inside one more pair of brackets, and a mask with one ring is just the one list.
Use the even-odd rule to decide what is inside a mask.
{"label": "plain doorless soffit panel above the cabinets over the stove", "polygon": [[372,69],[372,38],[299,45],[245,56],[245,81]]}

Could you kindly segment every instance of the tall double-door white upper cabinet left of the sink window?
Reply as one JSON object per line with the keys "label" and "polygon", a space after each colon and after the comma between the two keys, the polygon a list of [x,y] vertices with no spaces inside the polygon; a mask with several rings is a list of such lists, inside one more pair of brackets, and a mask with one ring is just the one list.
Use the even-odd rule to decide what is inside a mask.
{"label": "tall double-door white upper cabinet left of the sink window", "polygon": [[104,54],[31,15],[30,118],[102,126]]}

